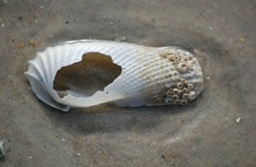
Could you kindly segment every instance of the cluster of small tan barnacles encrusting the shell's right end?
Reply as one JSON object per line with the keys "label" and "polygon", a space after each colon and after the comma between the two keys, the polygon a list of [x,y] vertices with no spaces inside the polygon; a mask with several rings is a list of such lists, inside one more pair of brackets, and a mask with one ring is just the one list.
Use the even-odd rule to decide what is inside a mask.
{"label": "cluster of small tan barnacles encrusting the shell's right end", "polygon": [[[162,88],[159,93],[153,96],[155,103],[162,104],[187,104],[195,98],[195,85],[186,77],[186,74],[193,72],[190,67],[193,57],[189,52],[160,52],[160,57],[171,62],[170,68],[174,72],[170,78],[171,84]],[[174,67],[174,68],[173,68]]]}

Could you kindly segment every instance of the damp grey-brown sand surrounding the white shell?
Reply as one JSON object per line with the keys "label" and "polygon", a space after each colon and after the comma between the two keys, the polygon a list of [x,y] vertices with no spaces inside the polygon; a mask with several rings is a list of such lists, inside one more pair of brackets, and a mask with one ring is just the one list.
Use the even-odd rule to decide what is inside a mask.
{"label": "damp grey-brown sand surrounding the white shell", "polygon": [[[256,166],[255,6],[0,1],[0,166]],[[81,38],[193,49],[205,90],[185,106],[62,113],[35,98],[23,73],[37,51]]]}

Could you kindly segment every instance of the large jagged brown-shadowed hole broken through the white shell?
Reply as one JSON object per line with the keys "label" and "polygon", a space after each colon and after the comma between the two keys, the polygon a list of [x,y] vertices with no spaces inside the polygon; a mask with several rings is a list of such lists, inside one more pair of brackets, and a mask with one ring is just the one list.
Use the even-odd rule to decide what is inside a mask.
{"label": "large jagged brown-shadowed hole broken through the white shell", "polygon": [[80,62],[58,70],[53,88],[62,92],[71,90],[74,92],[73,95],[90,96],[98,90],[103,90],[109,83],[113,83],[121,72],[122,68],[114,64],[110,56],[90,52],[84,54]]}

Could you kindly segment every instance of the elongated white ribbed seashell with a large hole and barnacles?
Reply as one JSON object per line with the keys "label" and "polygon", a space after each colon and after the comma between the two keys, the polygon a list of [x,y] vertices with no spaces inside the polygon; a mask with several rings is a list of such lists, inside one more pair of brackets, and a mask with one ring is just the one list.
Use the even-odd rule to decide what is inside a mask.
{"label": "elongated white ribbed seashell with a large hole and barnacles", "polygon": [[[96,60],[97,56],[111,60],[110,64],[119,68],[119,74],[111,83],[93,93],[78,91],[72,87],[55,88],[54,82],[62,70],[79,66],[78,63],[83,62],[85,57],[100,64],[102,60]],[[173,103],[180,104],[191,101],[203,90],[201,67],[194,55],[187,50],[116,41],[76,40],[48,47],[29,61],[29,70],[25,75],[32,85],[32,91],[41,101],[63,111],[69,110],[70,106],[90,107],[106,102],[136,107],[172,104],[172,99],[175,98]],[[90,81],[86,84],[88,83]],[[183,89],[191,98],[183,99]],[[174,98],[172,90],[178,92]],[[187,98],[188,95],[185,96]]]}

